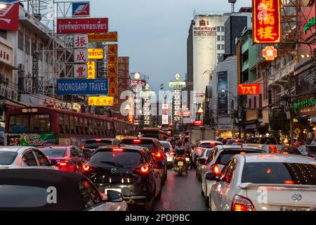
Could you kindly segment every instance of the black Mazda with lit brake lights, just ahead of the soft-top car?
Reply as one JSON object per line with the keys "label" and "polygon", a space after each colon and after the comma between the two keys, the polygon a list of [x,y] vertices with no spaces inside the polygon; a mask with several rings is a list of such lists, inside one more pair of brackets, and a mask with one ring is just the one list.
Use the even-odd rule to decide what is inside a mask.
{"label": "black Mazda with lit brake lights, just ahead of the soft-top car", "polygon": [[101,192],[119,191],[126,203],[143,204],[146,210],[162,198],[162,173],[147,148],[100,147],[84,165],[83,174]]}

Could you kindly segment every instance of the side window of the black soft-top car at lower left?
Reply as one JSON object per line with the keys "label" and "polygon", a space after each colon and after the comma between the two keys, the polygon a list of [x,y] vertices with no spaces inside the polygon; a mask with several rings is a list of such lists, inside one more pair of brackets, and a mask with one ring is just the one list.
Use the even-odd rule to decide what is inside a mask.
{"label": "side window of the black soft-top car at lower left", "polygon": [[84,205],[86,209],[91,207],[96,207],[102,202],[100,193],[96,188],[94,188],[87,180],[82,180],[79,183],[79,191],[82,199],[84,200]]}

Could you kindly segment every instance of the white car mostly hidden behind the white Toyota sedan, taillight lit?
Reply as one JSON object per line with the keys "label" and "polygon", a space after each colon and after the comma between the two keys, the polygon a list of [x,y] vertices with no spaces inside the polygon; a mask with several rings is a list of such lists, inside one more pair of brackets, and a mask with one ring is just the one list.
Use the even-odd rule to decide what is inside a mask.
{"label": "white car mostly hidden behind the white Toyota sedan, taillight lit", "polygon": [[256,147],[244,146],[216,146],[206,160],[206,165],[202,168],[202,195],[205,198],[205,205],[209,207],[209,193],[211,186],[215,184],[213,180],[207,180],[206,174],[213,172],[218,177],[228,160],[237,154],[263,153],[263,150]]}

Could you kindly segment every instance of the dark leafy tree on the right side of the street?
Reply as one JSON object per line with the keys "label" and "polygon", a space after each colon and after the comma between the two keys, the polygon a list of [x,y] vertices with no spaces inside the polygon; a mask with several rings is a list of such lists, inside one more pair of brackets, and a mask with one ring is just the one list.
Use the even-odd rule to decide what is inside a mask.
{"label": "dark leafy tree on the right side of the street", "polygon": [[282,132],[285,136],[289,135],[290,122],[287,119],[287,113],[282,112],[274,112],[270,117],[270,128],[272,131]]}

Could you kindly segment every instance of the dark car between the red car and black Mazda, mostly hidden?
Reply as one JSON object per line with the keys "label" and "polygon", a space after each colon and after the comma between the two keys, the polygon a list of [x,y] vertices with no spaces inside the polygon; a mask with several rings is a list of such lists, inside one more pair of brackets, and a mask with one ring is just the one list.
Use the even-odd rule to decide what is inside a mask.
{"label": "dark car between the red car and black Mazda, mostly hidden", "polygon": [[88,139],[84,141],[81,150],[86,158],[90,158],[97,148],[102,146],[119,146],[119,139]]}

